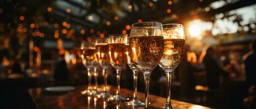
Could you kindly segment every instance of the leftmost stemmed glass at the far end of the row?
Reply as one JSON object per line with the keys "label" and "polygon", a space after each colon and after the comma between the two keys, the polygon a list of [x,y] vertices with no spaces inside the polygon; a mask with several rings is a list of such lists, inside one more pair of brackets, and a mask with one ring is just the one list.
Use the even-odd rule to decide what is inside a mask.
{"label": "leftmost stemmed glass at the far end of the row", "polygon": [[[93,69],[93,56],[95,52],[95,41],[89,40],[84,41],[81,44],[81,58],[83,65],[87,68],[87,75],[88,75],[88,88],[85,90],[84,94],[92,94],[92,72]],[[84,92],[84,91],[83,91]]]}

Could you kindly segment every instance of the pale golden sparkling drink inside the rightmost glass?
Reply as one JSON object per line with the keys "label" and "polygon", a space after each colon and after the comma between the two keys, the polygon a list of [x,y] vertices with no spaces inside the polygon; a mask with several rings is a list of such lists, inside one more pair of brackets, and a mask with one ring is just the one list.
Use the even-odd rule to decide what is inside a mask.
{"label": "pale golden sparkling drink inside the rightmost glass", "polygon": [[161,68],[170,70],[177,68],[184,57],[184,49],[184,39],[164,39],[163,57],[159,63]]}

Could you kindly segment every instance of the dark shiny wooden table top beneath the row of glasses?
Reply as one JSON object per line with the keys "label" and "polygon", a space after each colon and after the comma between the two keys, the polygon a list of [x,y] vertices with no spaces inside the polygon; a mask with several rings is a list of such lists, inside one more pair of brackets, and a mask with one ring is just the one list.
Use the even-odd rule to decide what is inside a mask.
{"label": "dark shiny wooden table top beneath the row of glasses", "polygon": [[[82,95],[81,92],[87,89],[87,86],[76,87],[75,90],[65,93],[49,93],[44,88],[29,89],[29,93],[37,105],[38,108],[133,108],[124,106],[123,102],[107,101],[95,96]],[[100,86],[99,90],[103,90]],[[107,86],[107,92],[115,94],[116,88],[113,86]],[[121,89],[121,94],[124,97],[132,98],[132,91],[128,89]],[[144,94],[138,92],[138,99],[144,102]],[[162,98],[155,95],[150,95],[150,107],[162,108],[166,104],[166,98]],[[174,108],[189,108],[189,109],[207,109],[200,105],[189,104],[182,101],[172,100]],[[144,108],[134,107],[134,108]]]}

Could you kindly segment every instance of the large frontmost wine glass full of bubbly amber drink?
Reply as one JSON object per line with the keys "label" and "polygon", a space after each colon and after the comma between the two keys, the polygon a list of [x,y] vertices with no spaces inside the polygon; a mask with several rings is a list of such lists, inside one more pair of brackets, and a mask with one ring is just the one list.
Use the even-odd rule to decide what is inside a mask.
{"label": "large frontmost wine glass full of bubbly amber drink", "polygon": [[158,22],[140,22],[132,25],[129,55],[143,72],[145,81],[145,108],[149,108],[150,74],[163,56],[163,28]]}

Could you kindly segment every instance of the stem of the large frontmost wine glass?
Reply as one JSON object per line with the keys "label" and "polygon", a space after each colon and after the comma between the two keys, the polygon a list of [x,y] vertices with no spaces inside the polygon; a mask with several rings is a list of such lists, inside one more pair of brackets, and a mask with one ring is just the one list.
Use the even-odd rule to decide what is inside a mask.
{"label": "stem of the large frontmost wine glass", "polygon": [[150,72],[144,72],[144,81],[145,81],[145,108],[149,108],[149,80]]}

